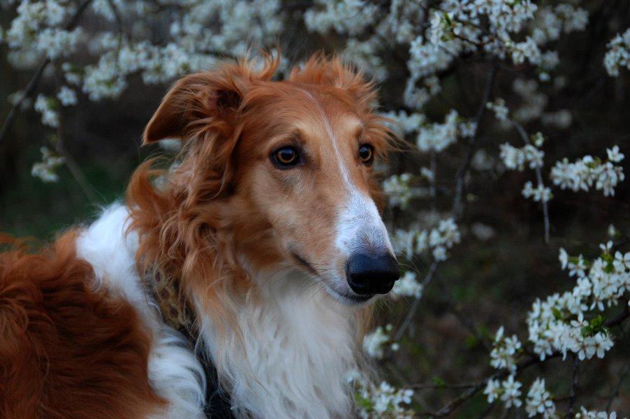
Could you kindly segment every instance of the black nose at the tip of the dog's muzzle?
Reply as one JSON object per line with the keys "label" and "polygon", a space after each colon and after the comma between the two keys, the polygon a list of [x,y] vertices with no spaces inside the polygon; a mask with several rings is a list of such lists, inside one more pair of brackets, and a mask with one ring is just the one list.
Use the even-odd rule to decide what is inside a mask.
{"label": "black nose at the tip of the dog's muzzle", "polygon": [[389,253],[370,255],[354,254],[346,265],[346,280],[357,294],[386,294],[400,277],[396,259]]}

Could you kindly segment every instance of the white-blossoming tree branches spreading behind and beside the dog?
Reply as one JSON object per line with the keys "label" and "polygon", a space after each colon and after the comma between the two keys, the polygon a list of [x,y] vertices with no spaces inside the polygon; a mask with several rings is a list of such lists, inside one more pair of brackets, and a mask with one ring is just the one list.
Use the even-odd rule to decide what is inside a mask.
{"label": "white-blossoming tree branches spreading behind and beside the dog", "polygon": [[[387,370],[393,353],[405,350],[418,307],[434,286],[432,280],[441,267],[453,263],[451,253],[474,238],[486,241],[494,235],[492,227],[466,216],[467,206],[474,202],[469,187],[475,175],[492,172],[527,179],[519,186],[522,205],[527,200],[539,205],[541,240],[549,252],[559,254],[562,270],[574,282],[572,288],[558,287],[552,295],[533,300],[527,316],[517,319],[520,333],[508,333],[515,324],[509,323],[494,337],[480,337],[478,328],[462,318],[486,347],[488,374],[474,383],[450,386],[462,392],[437,409],[421,392],[448,388],[439,378],[425,385],[405,382],[398,374],[393,376],[400,381],[396,388],[349,372],[360,416],[448,416],[483,395],[488,412],[498,406],[505,414],[522,412],[528,417],[612,419],[616,413],[610,411],[610,403],[581,406],[577,390],[580,363],[608,358],[618,339],[625,337],[630,298],[627,236],[611,226],[609,237],[601,235],[598,251],[583,256],[581,244],[566,251],[555,245],[554,239],[562,237],[553,237],[549,211],[555,201],[571,196],[569,192],[613,199],[624,181],[627,149],[622,142],[602,145],[590,156],[564,141],[562,151],[571,158],[558,154],[555,144],[574,124],[571,110],[554,105],[569,82],[563,66],[567,48],[560,47],[588,29],[593,13],[604,13],[605,6],[599,3],[0,0],[2,13],[11,16],[6,27],[0,27],[8,62],[34,74],[24,89],[8,98],[12,108],[0,128],[0,143],[7,140],[17,114],[32,107],[44,126],[57,130],[41,149],[42,161],[33,164],[32,175],[55,182],[57,170],[66,164],[85,184],[59,131],[63,108],[117,99],[134,77],[144,84],[163,84],[258,47],[279,54],[274,50],[279,41],[288,43],[295,33],[326,40],[344,59],[381,82],[386,93],[383,115],[406,140],[409,154],[423,161],[395,167],[397,172],[383,182],[393,208],[393,242],[404,267],[393,300],[404,307],[404,316],[395,326],[381,325],[367,334],[363,348],[370,358]],[[598,66],[606,78],[627,77],[630,28],[619,28],[605,47]],[[288,50],[295,55],[292,61],[307,55]],[[288,64],[288,58],[282,63]],[[481,88],[467,87],[462,74]],[[453,91],[461,101],[448,100]],[[488,142],[490,136],[499,138],[499,144]],[[453,156],[454,149],[458,163],[454,170],[452,163],[442,170],[446,160],[442,156]],[[455,181],[445,186],[441,182],[445,174]],[[89,193],[89,186],[85,190]],[[423,203],[430,209],[420,210]],[[418,272],[417,265],[427,269]],[[571,364],[571,376],[564,377],[566,394],[557,392],[566,388],[562,380],[545,376],[543,369],[527,375],[526,370],[553,358]]]}

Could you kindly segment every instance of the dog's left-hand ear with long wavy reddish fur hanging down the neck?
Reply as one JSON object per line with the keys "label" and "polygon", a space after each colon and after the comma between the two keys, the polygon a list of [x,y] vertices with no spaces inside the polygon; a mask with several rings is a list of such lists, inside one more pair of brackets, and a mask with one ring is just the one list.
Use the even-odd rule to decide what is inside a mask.
{"label": "dog's left-hand ear with long wavy reddish fur hanging down the neck", "polygon": [[186,142],[179,168],[167,175],[153,169],[154,160],[149,160],[135,171],[126,194],[130,229],[140,235],[138,267],[175,328],[189,325],[182,300],[191,302],[186,293],[192,284],[206,299],[216,300],[211,306],[217,323],[229,321],[221,307],[229,300],[224,288],[233,284],[205,282],[224,277],[230,269],[231,250],[217,236],[221,200],[212,198],[221,196],[230,182],[230,156],[242,129],[244,98],[256,82],[270,80],[277,65],[277,59],[268,57],[262,69],[255,70],[242,60],[186,76],[170,89],[145,129],[145,143],[164,138]]}

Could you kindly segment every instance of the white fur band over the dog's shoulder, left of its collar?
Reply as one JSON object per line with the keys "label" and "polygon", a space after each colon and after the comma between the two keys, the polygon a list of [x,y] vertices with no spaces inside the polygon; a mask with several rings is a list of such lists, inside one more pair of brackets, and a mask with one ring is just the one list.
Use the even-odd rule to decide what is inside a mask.
{"label": "white fur band over the dog's shoulder, left of its collar", "polygon": [[129,211],[112,205],[77,239],[77,253],[96,274],[95,288],[108,287],[133,307],[152,335],[149,353],[149,382],[168,401],[165,411],[154,419],[205,418],[205,374],[189,344],[172,328],[161,323],[156,304],[145,292],[135,270],[138,236],[125,236]]}

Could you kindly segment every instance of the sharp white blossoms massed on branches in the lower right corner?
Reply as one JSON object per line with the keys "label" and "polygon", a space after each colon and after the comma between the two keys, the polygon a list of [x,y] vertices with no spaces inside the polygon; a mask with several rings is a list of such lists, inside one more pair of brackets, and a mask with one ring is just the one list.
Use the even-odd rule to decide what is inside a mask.
{"label": "sharp white blossoms massed on branches in the lower right corner", "polygon": [[[615,228],[609,232],[615,235]],[[630,291],[630,252],[613,251],[613,242],[600,245],[601,254],[588,261],[582,255],[569,256],[564,249],[559,251],[559,262],[570,277],[576,277],[576,286],[571,291],[555,293],[542,301],[536,299],[527,314],[529,342],[532,351],[545,360],[553,353],[566,358],[573,353],[578,360],[597,356],[603,358],[613,347],[613,337],[606,326],[605,311],[624,300]],[[504,402],[506,408],[520,406],[522,383],[515,380],[518,374],[518,355],[522,344],[516,335],[506,337],[501,326],[492,343],[490,365],[506,369],[510,375],[506,380],[490,378],[484,394],[488,402]],[[555,418],[556,407],[553,397],[545,389],[544,378],[536,378],[527,392],[525,411],[529,417],[541,415]],[[608,418],[607,413],[582,409],[583,418]],[[599,416],[606,415],[606,416]],[[578,415],[576,415],[578,417]],[[611,416],[615,417],[615,416]]]}

